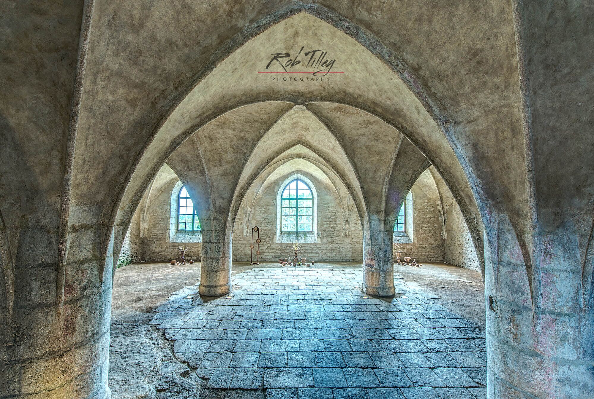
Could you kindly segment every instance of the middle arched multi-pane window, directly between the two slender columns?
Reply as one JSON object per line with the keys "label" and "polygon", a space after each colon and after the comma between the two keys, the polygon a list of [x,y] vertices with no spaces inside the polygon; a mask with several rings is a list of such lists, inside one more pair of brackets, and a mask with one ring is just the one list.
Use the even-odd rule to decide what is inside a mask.
{"label": "middle arched multi-pane window, directly between the two slender columns", "polygon": [[314,231],[314,196],[307,183],[296,178],[280,197],[280,231]]}

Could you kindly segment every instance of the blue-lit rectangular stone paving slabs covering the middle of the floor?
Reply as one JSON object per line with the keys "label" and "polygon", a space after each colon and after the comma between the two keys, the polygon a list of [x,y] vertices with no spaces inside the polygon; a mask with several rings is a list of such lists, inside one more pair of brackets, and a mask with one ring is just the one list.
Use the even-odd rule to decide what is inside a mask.
{"label": "blue-lit rectangular stone paving slabs covering the middle of the floor", "polygon": [[396,274],[366,298],[361,270],[254,267],[233,292],[174,292],[150,324],[204,379],[200,398],[486,398],[485,331]]}

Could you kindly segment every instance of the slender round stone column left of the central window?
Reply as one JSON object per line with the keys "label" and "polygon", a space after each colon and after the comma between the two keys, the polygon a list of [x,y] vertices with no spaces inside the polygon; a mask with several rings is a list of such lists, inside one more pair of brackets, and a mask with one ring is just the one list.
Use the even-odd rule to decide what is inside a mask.
{"label": "slender round stone column left of the central window", "polygon": [[208,212],[200,220],[202,256],[200,295],[221,296],[231,292],[231,234],[226,231],[227,215]]}

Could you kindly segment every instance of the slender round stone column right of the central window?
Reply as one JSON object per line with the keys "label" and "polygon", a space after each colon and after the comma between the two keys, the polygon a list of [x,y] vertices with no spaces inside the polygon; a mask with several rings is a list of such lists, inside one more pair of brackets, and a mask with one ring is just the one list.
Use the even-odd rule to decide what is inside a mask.
{"label": "slender round stone column right of the central window", "polygon": [[363,288],[369,295],[394,295],[394,228],[389,224],[381,216],[369,215],[368,226],[363,230]]}

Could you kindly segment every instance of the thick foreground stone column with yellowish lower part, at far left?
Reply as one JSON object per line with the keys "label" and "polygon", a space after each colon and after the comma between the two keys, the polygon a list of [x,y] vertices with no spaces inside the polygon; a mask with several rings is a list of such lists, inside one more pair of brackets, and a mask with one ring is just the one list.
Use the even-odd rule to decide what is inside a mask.
{"label": "thick foreground stone column with yellowish lower part, at far left", "polygon": [[[87,206],[82,215],[92,214],[92,208]],[[20,229],[15,289],[9,292],[14,306],[0,327],[0,397],[110,398],[113,247],[101,244],[105,229],[91,217],[69,225],[64,274],[56,273],[57,230],[42,225]]]}

